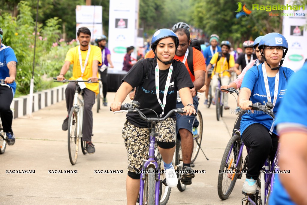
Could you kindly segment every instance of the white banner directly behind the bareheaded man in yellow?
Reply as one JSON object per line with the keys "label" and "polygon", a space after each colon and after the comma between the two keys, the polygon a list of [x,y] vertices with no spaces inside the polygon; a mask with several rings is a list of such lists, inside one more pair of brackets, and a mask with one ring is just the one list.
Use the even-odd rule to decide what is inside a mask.
{"label": "white banner directly behind the bareheaded man in yellow", "polygon": [[76,6],[76,36],[83,26],[91,31],[91,41],[102,35],[102,6]]}

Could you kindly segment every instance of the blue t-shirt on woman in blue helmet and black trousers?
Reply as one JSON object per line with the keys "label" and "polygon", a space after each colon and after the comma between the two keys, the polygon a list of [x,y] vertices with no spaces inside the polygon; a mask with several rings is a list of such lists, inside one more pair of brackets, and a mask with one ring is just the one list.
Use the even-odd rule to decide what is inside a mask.
{"label": "blue t-shirt on woman in blue helmet and black trousers", "polygon": [[[257,66],[253,66],[251,69],[249,69],[245,73],[241,85],[241,89],[248,88],[251,90],[250,101],[252,101],[253,103],[260,102],[261,104],[263,104],[263,101],[265,102],[268,101],[266,97],[266,87],[264,85],[264,78],[262,73],[262,64],[258,65],[258,69]],[[289,81],[293,73],[294,73],[293,70],[287,67],[280,67],[279,69],[278,97],[276,100],[276,104],[273,108],[273,112],[275,114],[277,113],[282,98],[286,94],[287,81]],[[286,75],[286,77],[284,74]],[[273,103],[275,77],[268,77],[268,81],[269,81],[270,95]],[[240,125],[241,133],[244,133],[244,130],[248,126],[254,123],[263,124],[268,130],[270,130],[273,124],[273,118],[268,114],[259,111],[255,111],[254,113],[251,114],[245,113],[241,119],[241,125]],[[276,128],[274,128],[273,133],[277,134]]]}

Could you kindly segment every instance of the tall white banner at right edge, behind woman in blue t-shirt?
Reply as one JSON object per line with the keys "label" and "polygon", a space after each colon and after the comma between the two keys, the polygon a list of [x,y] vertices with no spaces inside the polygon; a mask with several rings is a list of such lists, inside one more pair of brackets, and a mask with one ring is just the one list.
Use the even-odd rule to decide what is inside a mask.
{"label": "tall white banner at right edge, behind woman in blue t-shirt", "polygon": [[[284,5],[293,5],[293,1],[285,0]],[[307,6],[307,5],[305,5]],[[283,66],[294,71],[300,69],[307,58],[307,30],[301,26],[306,24],[306,9],[303,10],[284,10],[282,21],[282,35],[288,41],[289,49]],[[286,14],[286,15],[285,15]]]}

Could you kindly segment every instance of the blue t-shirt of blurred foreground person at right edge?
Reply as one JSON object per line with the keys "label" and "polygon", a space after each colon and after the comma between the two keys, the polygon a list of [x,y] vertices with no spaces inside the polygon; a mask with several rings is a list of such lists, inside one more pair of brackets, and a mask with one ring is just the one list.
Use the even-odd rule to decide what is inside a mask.
{"label": "blue t-shirt of blurred foreground person at right edge", "polygon": [[[293,75],[287,86],[287,96],[283,99],[276,118],[276,125],[280,123],[298,123],[307,128],[307,95],[304,88],[307,88],[307,63]],[[297,100],[299,99],[299,100]],[[303,103],[303,104],[302,104]],[[276,175],[275,175],[276,176]],[[275,178],[274,189],[270,197],[270,204],[294,205],[286,189],[280,182],[279,177]]]}

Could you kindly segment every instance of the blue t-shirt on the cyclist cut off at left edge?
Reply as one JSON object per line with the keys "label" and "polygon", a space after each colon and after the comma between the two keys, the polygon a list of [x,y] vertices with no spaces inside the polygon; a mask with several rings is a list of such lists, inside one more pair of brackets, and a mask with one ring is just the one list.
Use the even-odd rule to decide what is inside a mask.
{"label": "blue t-shirt on the cyclist cut off at left edge", "polygon": [[[10,77],[10,70],[7,67],[7,64],[11,61],[17,62],[17,58],[15,56],[14,50],[9,47],[5,46],[4,44],[1,44],[0,47],[0,79],[5,79],[6,77]],[[16,82],[14,81],[10,85],[10,87],[13,89],[13,95],[15,94],[16,90]]]}

